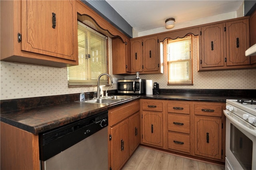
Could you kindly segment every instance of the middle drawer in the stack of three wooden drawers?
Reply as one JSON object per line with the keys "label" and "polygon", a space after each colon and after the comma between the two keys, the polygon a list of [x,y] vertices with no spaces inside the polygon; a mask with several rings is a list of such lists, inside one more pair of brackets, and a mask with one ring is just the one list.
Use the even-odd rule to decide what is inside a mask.
{"label": "middle drawer in the stack of three wooden drawers", "polygon": [[168,130],[190,133],[190,116],[184,114],[168,114]]}

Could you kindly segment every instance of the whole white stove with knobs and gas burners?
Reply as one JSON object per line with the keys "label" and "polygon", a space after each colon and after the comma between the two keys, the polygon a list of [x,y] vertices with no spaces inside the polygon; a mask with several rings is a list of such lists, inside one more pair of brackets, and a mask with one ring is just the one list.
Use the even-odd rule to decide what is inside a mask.
{"label": "whole white stove with knobs and gas burners", "polygon": [[227,99],[225,170],[256,170],[256,100]]}

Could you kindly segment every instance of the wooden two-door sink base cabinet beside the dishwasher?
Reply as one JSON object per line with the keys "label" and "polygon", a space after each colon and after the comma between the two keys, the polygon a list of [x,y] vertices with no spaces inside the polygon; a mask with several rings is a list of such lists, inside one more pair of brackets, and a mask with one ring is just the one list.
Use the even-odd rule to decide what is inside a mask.
{"label": "wooden two-door sink base cabinet beside the dishwasher", "polygon": [[108,110],[108,166],[120,170],[140,144],[139,100]]}

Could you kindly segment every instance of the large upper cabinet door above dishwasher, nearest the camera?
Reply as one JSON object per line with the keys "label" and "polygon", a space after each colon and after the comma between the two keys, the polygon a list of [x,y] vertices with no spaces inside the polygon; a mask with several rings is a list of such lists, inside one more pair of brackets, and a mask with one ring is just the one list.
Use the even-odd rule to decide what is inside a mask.
{"label": "large upper cabinet door above dishwasher, nearest the camera", "polygon": [[22,50],[77,60],[75,4],[72,0],[22,1]]}

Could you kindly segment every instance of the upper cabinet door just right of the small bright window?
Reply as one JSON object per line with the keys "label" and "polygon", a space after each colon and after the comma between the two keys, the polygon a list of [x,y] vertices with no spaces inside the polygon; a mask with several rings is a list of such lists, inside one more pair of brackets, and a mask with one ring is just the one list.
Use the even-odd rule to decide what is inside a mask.
{"label": "upper cabinet door just right of the small bright window", "polygon": [[224,66],[224,24],[202,27],[202,58],[201,67]]}

